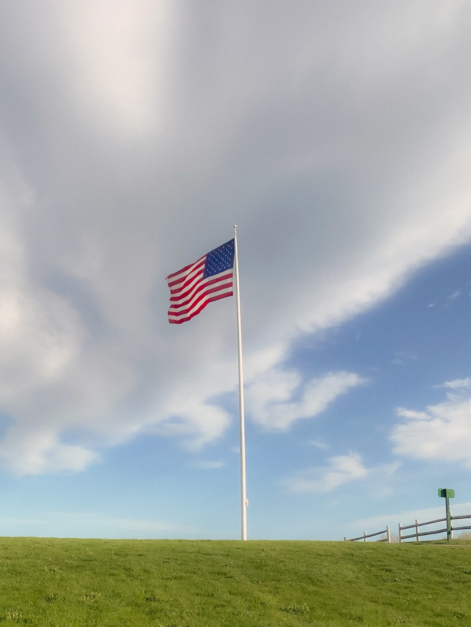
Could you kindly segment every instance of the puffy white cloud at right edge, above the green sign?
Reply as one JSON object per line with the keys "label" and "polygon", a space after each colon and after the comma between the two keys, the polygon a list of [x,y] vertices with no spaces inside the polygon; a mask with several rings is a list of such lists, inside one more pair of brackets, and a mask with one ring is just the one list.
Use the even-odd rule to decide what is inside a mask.
{"label": "puffy white cloud at right edge, above the green sign", "polygon": [[[465,381],[447,387],[464,387]],[[447,401],[429,405],[426,411],[397,410],[404,421],[391,432],[394,453],[418,460],[463,460],[471,465],[471,399],[447,396]]]}

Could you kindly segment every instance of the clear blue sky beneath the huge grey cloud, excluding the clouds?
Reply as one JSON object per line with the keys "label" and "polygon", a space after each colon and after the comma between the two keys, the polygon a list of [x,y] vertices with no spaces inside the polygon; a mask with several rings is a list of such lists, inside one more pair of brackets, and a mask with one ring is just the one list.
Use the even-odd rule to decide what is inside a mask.
{"label": "clear blue sky beneath the huge grey cloud, excluding the clouds", "polygon": [[[369,312],[323,337],[298,340],[286,366],[304,377],[345,369],[359,372],[367,382],[288,432],[266,431],[249,416],[250,537],[341,539],[342,534],[361,534],[364,519],[373,519],[368,531],[379,530],[384,527],[375,527],[379,517],[395,531],[398,522],[414,522],[422,510],[425,518],[428,510],[433,518],[441,505],[436,488],[442,485],[455,488],[458,504],[471,503],[466,459],[413,460],[394,454],[390,440],[399,422],[397,408],[425,411],[445,400],[443,382],[470,374],[470,278],[471,250],[463,246],[416,271]],[[5,533],[237,537],[236,394],[227,394],[223,402],[234,416],[232,424],[202,450],[188,451],[172,439],[137,436],[105,451],[100,463],[81,473],[20,478],[4,473],[1,499],[4,511],[11,512],[1,519]],[[320,468],[316,479],[325,480],[328,460],[352,453],[365,468],[379,470],[326,492],[293,493],[285,483],[290,477],[305,477],[309,468]],[[467,513],[466,506],[455,510]]]}

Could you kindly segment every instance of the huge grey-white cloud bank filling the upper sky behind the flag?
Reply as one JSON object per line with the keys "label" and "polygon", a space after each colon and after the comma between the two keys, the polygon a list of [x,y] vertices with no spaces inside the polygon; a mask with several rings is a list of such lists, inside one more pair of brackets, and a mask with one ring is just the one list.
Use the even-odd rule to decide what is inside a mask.
{"label": "huge grey-white cloud bank filling the upper sky behind the flag", "polygon": [[234,303],[175,329],[164,277],[234,221],[254,418],[288,428],[358,384],[283,364],[469,241],[466,5],[33,4],[0,23],[4,463],[224,433]]}

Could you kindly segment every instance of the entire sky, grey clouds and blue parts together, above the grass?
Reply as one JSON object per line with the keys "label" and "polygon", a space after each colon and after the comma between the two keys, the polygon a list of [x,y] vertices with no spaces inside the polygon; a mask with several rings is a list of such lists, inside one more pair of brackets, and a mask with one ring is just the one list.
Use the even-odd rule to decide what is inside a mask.
{"label": "entire sky, grey clouds and blue parts together, above the grass", "polygon": [[471,8],[5,0],[0,535],[249,539],[471,514]]}

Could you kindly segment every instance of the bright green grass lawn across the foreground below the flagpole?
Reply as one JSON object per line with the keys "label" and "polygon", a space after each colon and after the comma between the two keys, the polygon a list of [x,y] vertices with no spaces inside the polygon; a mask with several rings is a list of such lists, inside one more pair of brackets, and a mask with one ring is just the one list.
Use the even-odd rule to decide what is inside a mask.
{"label": "bright green grass lawn across the foreground below the flagpole", "polygon": [[0,538],[0,624],[471,626],[471,542]]}

